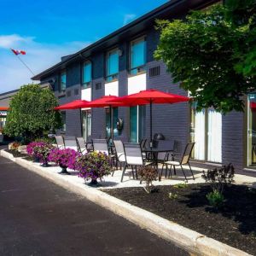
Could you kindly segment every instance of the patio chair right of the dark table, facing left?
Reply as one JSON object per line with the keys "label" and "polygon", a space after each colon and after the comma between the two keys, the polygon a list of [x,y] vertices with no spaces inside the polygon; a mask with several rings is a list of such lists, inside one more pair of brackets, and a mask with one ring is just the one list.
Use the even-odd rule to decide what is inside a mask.
{"label": "patio chair right of the dark table, facing left", "polygon": [[[190,172],[192,173],[192,176],[193,176],[193,179],[195,180],[195,177],[194,177],[194,174],[192,172],[192,169],[191,169],[191,166],[189,164],[189,159],[190,159],[190,156],[191,156],[191,153],[192,153],[192,150],[194,148],[194,145],[195,143],[188,143],[184,149],[184,152],[183,152],[183,157],[181,158],[180,161],[175,161],[173,159],[173,156],[172,156],[172,160],[167,160],[163,163],[163,166],[166,166],[166,170],[168,170],[168,166],[170,166],[170,170],[169,170],[169,177],[171,176],[172,177],[172,166],[173,166],[173,170],[174,170],[174,173],[176,174],[176,166],[181,166],[181,169],[182,169],[182,172],[183,172],[183,175],[185,177],[185,179],[188,181],[187,177],[186,177],[186,174],[183,170],[183,166],[184,165],[188,165],[189,166],[189,169],[190,169]],[[162,169],[163,170],[163,169]]]}

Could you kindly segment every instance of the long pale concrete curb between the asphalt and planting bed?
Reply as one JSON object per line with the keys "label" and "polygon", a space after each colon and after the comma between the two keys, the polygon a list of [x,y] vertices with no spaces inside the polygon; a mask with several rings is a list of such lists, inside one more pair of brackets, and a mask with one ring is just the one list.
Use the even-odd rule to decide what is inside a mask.
{"label": "long pale concrete curb between the asphalt and planting bed", "polygon": [[250,255],[220,241],[213,240],[212,238],[201,235],[193,230],[184,228],[183,226],[173,223],[165,218],[161,218],[154,213],[145,211],[139,207],[134,207],[131,204],[121,201],[98,189],[90,188],[81,183],[79,184],[68,181],[61,175],[55,172],[50,172],[49,169],[37,166],[30,161],[21,158],[14,158],[12,154],[9,154],[4,150],[0,151],[0,155],[8,158],[9,160],[13,160],[18,165],[25,167],[29,171],[38,173],[38,175],[47,178],[49,181],[60,185],[65,189],[82,195],[88,200],[115,212],[123,218],[130,220],[132,223],[141,226],[143,229],[149,230],[167,241],[176,243],[179,247],[183,247],[190,253],[209,256]]}

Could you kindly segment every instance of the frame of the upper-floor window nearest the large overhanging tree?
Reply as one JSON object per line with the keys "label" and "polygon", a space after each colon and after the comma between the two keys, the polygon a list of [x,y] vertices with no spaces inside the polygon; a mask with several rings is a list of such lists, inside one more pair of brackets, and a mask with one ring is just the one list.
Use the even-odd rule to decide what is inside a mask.
{"label": "frame of the upper-floor window nearest the large overhanging tree", "polygon": [[[144,41],[144,44],[145,44],[145,46],[144,46],[145,62],[143,65],[131,68],[131,47],[132,47],[132,44],[138,43],[140,41]],[[130,74],[130,76],[137,76],[139,74],[146,73],[146,69],[145,69],[146,63],[147,63],[147,37],[145,35],[143,35],[139,38],[135,38],[135,39],[131,40],[130,45],[129,45],[129,74]],[[136,71],[136,73],[132,73],[132,71]]]}

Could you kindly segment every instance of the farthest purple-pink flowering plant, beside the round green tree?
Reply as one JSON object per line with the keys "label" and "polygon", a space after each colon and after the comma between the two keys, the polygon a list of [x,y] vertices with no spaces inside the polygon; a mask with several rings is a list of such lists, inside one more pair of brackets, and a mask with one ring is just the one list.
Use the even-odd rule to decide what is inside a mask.
{"label": "farthest purple-pink flowering plant, beside the round green tree", "polygon": [[27,145],[26,152],[32,156],[34,160],[39,160],[40,163],[47,166],[49,152],[54,148],[55,147],[49,143],[32,142]]}

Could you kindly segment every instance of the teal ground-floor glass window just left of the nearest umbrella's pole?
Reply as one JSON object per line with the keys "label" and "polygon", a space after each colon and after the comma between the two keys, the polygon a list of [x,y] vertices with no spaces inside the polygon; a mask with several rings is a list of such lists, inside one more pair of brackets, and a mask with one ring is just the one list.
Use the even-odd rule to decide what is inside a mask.
{"label": "teal ground-floor glass window just left of the nearest umbrella's pole", "polygon": [[130,141],[139,143],[146,134],[146,106],[130,108]]}

